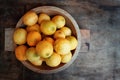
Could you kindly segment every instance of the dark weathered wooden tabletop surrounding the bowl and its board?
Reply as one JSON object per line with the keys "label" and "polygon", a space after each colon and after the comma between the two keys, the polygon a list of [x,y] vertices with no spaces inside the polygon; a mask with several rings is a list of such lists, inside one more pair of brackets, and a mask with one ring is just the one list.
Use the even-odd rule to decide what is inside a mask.
{"label": "dark weathered wooden tabletop surrounding the bowl and its board", "polygon": [[[0,80],[120,80],[120,1],[102,1],[0,0]],[[43,5],[65,9],[91,33],[90,51],[79,53],[66,70],[49,75],[30,71],[14,52],[4,51],[5,28],[14,28],[25,12]]]}

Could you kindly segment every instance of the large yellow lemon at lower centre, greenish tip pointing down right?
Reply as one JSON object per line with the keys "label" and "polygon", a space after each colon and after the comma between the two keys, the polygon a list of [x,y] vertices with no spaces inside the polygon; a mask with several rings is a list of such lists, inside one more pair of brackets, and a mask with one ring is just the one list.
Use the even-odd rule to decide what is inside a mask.
{"label": "large yellow lemon at lower centre, greenish tip pointing down right", "polygon": [[38,55],[40,55],[42,58],[48,58],[52,55],[53,53],[53,46],[50,42],[48,41],[40,41],[36,45],[36,52]]}

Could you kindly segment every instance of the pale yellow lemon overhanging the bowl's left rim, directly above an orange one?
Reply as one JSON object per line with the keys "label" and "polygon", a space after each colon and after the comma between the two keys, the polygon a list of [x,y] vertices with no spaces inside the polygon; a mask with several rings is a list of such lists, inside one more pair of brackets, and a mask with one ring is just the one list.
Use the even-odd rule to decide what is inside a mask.
{"label": "pale yellow lemon overhanging the bowl's left rim, directly above an orange one", "polygon": [[13,40],[16,44],[25,44],[26,43],[27,31],[22,28],[17,28],[13,34]]}

